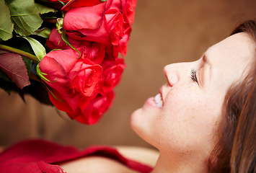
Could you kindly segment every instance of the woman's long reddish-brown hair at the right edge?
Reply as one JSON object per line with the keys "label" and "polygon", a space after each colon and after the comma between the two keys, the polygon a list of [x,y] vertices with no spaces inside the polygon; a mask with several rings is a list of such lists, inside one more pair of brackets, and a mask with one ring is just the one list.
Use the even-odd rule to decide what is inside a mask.
{"label": "woman's long reddish-brown hair at the right edge", "polygon": [[[232,35],[238,32],[247,32],[256,45],[255,21],[242,22]],[[218,135],[209,172],[256,172],[256,59],[244,80],[227,92]]]}

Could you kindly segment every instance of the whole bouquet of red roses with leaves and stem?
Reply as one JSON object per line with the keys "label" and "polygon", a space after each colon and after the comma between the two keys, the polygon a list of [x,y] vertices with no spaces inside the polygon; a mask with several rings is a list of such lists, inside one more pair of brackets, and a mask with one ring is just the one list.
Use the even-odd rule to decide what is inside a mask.
{"label": "whole bouquet of red roses with leaves and stem", "polygon": [[135,6],[136,0],[0,1],[0,87],[50,99],[71,119],[97,123],[125,68],[120,55]]}

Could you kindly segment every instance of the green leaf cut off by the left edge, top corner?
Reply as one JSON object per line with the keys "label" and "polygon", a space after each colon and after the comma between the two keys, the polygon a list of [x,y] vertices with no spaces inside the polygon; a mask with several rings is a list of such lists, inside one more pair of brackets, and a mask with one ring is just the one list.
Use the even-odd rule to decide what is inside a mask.
{"label": "green leaf cut off by the left edge, top corner", "polygon": [[12,37],[14,24],[8,6],[3,0],[0,1],[0,40],[9,40]]}

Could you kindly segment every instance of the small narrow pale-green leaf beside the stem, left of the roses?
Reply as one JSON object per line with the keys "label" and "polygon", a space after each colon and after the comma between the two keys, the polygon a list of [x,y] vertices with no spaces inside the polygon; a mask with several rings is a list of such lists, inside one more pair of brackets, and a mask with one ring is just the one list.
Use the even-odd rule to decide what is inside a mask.
{"label": "small narrow pale-green leaf beside the stem, left of the roses", "polygon": [[43,57],[45,57],[46,55],[45,47],[43,47],[43,45],[39,41],[35,40],[32,37],[23,37],[23,38],[25,38],[30,43],[35,53],[35,56],[37,56],[39,60],[42,60]]}

